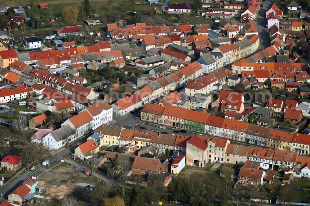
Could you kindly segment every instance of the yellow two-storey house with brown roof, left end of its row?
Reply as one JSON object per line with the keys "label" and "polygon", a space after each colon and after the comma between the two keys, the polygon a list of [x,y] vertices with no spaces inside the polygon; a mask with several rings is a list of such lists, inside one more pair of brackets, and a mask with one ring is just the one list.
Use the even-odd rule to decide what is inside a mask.
{"label": "yellow two-storey house with brown roof, left end of its row", "polygon": [[103,124],[95,129],[95,133],[101,134],[102,145],[118,145],[118,139],[122,132],[121,126]]}

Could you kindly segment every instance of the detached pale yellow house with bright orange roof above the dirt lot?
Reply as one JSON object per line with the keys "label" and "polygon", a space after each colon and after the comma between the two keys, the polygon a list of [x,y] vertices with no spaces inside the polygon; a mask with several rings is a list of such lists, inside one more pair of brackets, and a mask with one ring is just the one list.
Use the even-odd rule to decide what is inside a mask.
{"label": "detached pale yellow house with bright orange roof above the dirt lot", "polygon": [[99,151],[99,143],[94,143],[95,139],[90,139],[84,143],[78,143],[78,147],[74,150],[74,154],[83,161],[92,157]]}

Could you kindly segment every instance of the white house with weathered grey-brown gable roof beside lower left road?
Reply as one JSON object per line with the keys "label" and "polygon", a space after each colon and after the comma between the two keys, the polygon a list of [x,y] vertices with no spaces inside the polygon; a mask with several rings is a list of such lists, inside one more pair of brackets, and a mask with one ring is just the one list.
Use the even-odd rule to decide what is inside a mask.
{"label": "white house with weathered grey-brown gable roof beside lower left road", "polygon": [[42,138],[42,142],[46,147],[59,149],[75,139],[78,139],[75,131],[69,125],[65,125],[48,133]]}

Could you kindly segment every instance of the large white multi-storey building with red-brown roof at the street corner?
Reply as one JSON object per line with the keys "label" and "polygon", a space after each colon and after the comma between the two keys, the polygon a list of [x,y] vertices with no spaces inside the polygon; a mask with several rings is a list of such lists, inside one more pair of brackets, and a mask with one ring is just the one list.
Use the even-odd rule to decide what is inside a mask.
{"label": "large white multi-storey building with red-brown roof at the street corner", "polygon": [[84,111],[87,111],[93,118],[93,129],[113,120],[113,107],[104,101],[98,101],[82,110]]}

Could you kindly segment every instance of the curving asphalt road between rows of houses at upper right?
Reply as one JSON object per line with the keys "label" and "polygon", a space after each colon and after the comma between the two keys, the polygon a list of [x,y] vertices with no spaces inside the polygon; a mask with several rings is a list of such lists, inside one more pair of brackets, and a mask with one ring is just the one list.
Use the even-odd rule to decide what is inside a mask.
{"label": "curving asphalt road between rows of houses at upper right", "polygon": [[266,22],[266,11],[268,7],[273,3],[272,0],[266,0],[266,2],[261,2],[263,4],[263,8],[260,9],[259,14],[256,18],[256,25],[259,33],[260,47],[258,51],[261,51],[268,46],[270,46],[270,39],[268,35],[267,22]]}

